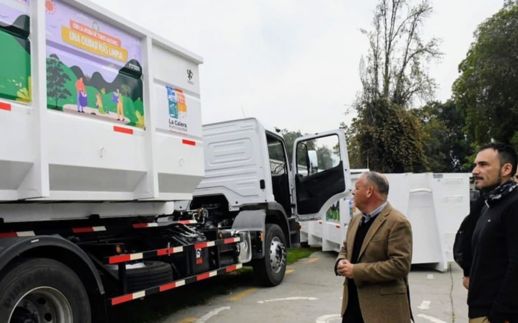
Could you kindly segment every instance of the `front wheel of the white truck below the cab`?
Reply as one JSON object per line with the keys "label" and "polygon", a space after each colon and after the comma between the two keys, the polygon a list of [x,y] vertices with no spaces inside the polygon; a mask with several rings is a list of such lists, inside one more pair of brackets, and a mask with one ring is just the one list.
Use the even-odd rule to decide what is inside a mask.
{"label": "front wheel of the white truck below the cab", "polygon": [[264,258],[253,262],[254,276],[264,286],[277,286],[286,272],[286,238],[277,224],[266,224]]}

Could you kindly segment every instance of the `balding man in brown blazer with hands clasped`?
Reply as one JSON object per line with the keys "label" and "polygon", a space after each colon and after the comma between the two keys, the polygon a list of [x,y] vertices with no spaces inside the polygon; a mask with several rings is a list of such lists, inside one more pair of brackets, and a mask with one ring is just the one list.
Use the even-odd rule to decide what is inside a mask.
{"label": "balding man in brown blazer with hands clasped", "polygon": [[410,222],[387,202],[389,181],[382,174],[362,174],[353,195],[362,213],[351,219],[335,264],[335,273],[346,277],[342,322],[408,323]]}

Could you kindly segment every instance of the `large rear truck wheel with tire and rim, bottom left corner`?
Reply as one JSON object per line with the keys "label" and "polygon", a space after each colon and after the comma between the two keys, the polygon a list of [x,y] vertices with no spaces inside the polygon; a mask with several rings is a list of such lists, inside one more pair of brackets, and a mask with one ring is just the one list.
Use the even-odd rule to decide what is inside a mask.
{"label": "large rear truck wheel with tire and rim, bottom left corner", "polygon": [[53,259],[26,258],[0,281],[0,322],[87,323],[87,291],[77,274]]}

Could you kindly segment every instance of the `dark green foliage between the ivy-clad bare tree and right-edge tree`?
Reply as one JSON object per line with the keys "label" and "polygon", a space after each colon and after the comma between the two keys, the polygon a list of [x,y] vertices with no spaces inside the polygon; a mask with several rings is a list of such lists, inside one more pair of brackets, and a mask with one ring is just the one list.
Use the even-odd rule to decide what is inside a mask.
{"label": "dark green foliage between the ivy-clad bare tree and right-edge tree", "polygon": [[428,171],[434,173],[469,172],[466,167],[473,149],[466,141],[466,120],[455,102],[430,102],[411,113],[421,121],[424,131],[424,153]]}

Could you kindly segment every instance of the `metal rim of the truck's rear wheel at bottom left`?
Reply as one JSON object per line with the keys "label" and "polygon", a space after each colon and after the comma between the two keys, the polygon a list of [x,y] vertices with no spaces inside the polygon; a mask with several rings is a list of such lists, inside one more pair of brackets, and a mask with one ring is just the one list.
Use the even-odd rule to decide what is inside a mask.
{"label": "metal rim of the truck's rear wheel at bottom left", "polygon": [[73,321],[66,297],[52,287],[28,291],[11,312],[10,323],[67,323]]}

